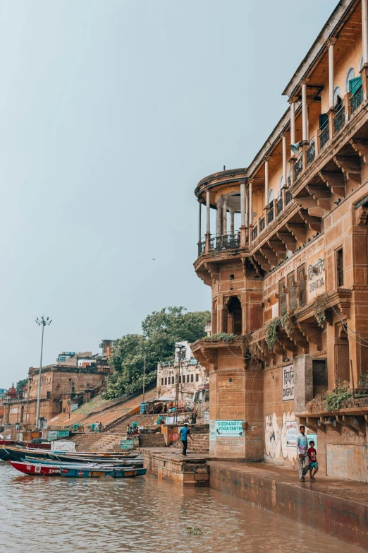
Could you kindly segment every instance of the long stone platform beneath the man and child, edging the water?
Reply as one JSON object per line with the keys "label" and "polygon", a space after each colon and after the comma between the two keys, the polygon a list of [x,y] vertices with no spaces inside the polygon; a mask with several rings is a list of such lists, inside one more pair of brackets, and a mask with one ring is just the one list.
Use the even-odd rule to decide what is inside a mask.
{"label": "long stone platform beneath the man and child, edging the water", "polygon": [[368,549],[368,484],[309,475],[267,463],[209,460],[209,485]]}

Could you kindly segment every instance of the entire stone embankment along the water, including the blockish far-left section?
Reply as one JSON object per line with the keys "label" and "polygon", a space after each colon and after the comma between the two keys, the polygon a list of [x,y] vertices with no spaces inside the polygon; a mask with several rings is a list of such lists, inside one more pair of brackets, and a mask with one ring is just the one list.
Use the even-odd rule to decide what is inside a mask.
{"label": "entire stone embankment along the water, including the blockish far-left section", "polygon": [[159,477],[183,486],[207,485],[368,549],[368,484],[328,476],[300,482],[298,472],[285,467],[206,460],[193,453],[183,458],[171,448],[147,448],[142,454]]}

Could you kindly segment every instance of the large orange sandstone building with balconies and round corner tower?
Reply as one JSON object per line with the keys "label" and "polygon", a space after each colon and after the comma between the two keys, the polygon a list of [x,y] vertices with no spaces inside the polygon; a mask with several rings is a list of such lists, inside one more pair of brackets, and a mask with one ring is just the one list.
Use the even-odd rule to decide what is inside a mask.
{"label": "large orange sandstone building with balconies and round corner tower", "polygon": [[[367,13],[367,0],[339,2],[254,160],[197,185],[195,270],[212,290],[212,340],[192,345],[209,372],[211,453],[293,465],[302,423],[321,470],[364,482]],[[336,388],[345,400],[329,410]]]}

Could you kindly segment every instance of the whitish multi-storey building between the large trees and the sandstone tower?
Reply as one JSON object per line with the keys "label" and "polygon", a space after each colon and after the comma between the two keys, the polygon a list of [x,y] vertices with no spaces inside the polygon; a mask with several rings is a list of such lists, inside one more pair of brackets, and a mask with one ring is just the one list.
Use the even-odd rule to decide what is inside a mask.
{"label": "whitish multi-storey building between the large trees and the sandstone tower", "polygon": [[207,383],[207,371],[193,357],[188,340],[177,343],[173,363],[157,364],[158,397],[168,396],[175,401],[178,388],[179,407],[192,408],[195,392],[203,391]]}

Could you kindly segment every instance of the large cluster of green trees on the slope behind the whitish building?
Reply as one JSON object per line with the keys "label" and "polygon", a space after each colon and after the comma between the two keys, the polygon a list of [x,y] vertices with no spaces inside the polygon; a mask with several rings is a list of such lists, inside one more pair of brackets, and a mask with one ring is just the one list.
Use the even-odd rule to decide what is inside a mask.
{"label": "large cluster of green trees on the slope behind the whitish building", "polygon": [[184,307],[154,311],[142,322],[142,334],[126,334],[116,340],[109,358],[114,373],[106,378],[104,399],[139,391],[143,386],[143,357],[146,354],[146,386],[157,377],[157,362],[173,359],[176,342],[195,342],[204,336],[211,320],[209,311],[186,313]]}

